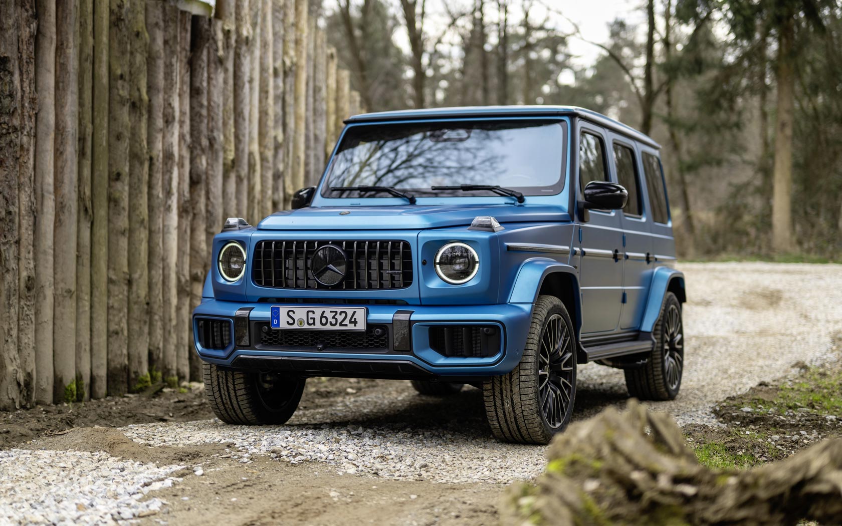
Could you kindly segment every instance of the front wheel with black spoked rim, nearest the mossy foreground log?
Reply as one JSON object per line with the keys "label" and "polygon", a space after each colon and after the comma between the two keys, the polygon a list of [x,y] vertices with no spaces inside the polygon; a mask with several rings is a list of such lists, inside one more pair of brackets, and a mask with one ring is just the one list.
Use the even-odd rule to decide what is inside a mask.
{"label": "front wheel with black spoked rim, nearest the mossy foreground log", "polygon": [[500,440],[547,444],[567,428],[576,400],[576,332],[561,300],[538,296],[520,364],[486,381],[482,396]]}

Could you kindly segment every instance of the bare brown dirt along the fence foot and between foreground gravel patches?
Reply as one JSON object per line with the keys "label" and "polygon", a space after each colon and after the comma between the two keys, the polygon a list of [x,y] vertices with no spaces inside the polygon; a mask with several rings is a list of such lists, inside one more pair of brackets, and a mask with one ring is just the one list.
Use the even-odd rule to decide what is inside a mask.
{"label": "bare brown dirt along the fence foot and between foreground gravel patches", "polygon": [[[369,391],[386,394],[398,386],[385,380],[314,379],[308,383],[301,410],[317,412],[344,396]],[[213,417],[199,385],[182,391],[166,389],[155,396],[107,398],[6,413],[0,416],[0,449],[105,451],[127,460],[185,465],[184,470],[173,474],[184,481],[155,492],[168,507],[143,518],[143,523],[498,523],[498,498],[504,488],[498,484],[440,484],[341,475],[331,465],[290,465],[262,456],[243,465],[231,458],[231,450],[224,444],[152,448],[132,442],[115,429],[131,423]],[[35,444],[27,444],[35,438]],[[201,476],[195,474],[195,466],[201,467]]]}

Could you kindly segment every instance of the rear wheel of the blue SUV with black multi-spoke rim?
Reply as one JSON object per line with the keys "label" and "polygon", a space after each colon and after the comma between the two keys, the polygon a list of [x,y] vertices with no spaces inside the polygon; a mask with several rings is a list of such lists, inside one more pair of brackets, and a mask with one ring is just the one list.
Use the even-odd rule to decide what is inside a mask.
{"label": "rear wheel of the blue SUV with black multi-spoke rim", "polygon": [[684,372],[684,323],[681,304],[672,292],[663,299],[652,336],[655,346],[646,365],[626,369],[626,387],[640,400],[674,400]]}

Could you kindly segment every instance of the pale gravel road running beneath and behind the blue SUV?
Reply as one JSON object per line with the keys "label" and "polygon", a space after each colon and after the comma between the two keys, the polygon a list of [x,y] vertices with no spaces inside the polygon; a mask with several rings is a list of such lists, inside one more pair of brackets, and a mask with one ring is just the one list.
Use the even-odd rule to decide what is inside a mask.
{"label": "pale gravel road running beneath and behind the blue SUV", "polygon": [[[689,298],[685,377],[677,400],[653,404],[680,424],[715,423],[711,407],[717,401],[790,375],[795,364],[837,359],[842,345],[842,265],[680,267],[687,276]],[[622,371],[595,364],[581,367],[578,389],[576,418],[621,405],[627,397]],[[267,485],[281,479],[297,480],[298,491],[319,494],[317,504],[307,501],[296,508],[301,523],[308,518],[318,522],[314,513],[321,516],[342,502],[343,514],[324,515],[320,523],[368,522],[364,519],[370,515],[359,514],[364,504],[352,503],[375,497],[354,497],[347,489],[354,480],[360,487],[380,486],[377,498],[387,500],[377,513],[386,513],[392,505],[402,510],[392,515],[393,523],[488,523],[494,521],[493,496],[500,485],[536,476],[545,450],[489,438],[476,389],[466,387],[456,396],[436,399],[418,396],[408,382],[377,380],[309,380],[301,409],[282,427],[235,427],[216,420],[147,423],[120,428],[121,433],[102,429],[100,434],[108,432],[108,439],[101,440],[97,429],[74,430],[20,446],[26,449],[0,451],[0,523],[109,523],[141,516],[190,523],[202,516],[197,510],[209,509],[211,518],[271,522],[279,503],[258,497],[252,511],[274,511],[243,515],[237,511],[237,497],[226,498],[235,490],[221,491],[227,483],[224,477],[239,478],[250,465],[261,466],[258,471],[264,474],[283,473],[278,471],[274,479],[264,476],[259,483],[252,479],[251,489],[242,489],[241,503],[242,498],[263,495]],[[86,434],[79,435],[82,432]],[[95,453],[100,449],[110,454]],[[217,472],[220,486],[210,491]],[[311,487],[314,480],[322,489],[300,489]],[[347,487],[332,489],[340,485]],[[232,482],[224,487],[235,486]],[[456,490],[477,493],[480,504],[454,501],[460,513],[435,504],[450,502]]]}

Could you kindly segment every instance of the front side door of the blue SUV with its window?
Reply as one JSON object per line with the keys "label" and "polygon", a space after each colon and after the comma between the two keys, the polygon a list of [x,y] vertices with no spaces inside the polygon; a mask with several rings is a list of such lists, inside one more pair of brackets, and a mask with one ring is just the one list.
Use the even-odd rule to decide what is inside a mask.
{"label": "front side door of the blue SUV with its window", "polygon": [[[596,125],[579,120],[577,199],[591,181],[609,181],[608,136]],[[617,210],[590,210],[579,222],[579,286],[582,292],[582,333],[612,332],[620,320],[623,261],[622,230]]]}

